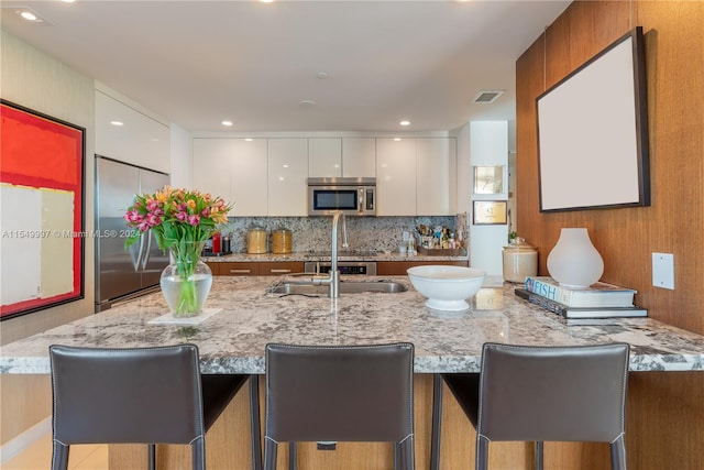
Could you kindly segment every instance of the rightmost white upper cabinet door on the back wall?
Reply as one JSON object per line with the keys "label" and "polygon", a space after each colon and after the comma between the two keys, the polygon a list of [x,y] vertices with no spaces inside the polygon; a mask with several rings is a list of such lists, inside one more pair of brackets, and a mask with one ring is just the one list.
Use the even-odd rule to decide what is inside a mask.
{"label": "rightmost white upper cabinet door on the back wall", "polygon": [[416,214],[455,214],[457,141],[451,138],[416,139]]}

